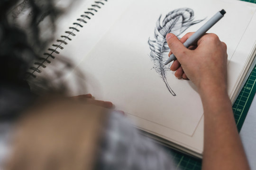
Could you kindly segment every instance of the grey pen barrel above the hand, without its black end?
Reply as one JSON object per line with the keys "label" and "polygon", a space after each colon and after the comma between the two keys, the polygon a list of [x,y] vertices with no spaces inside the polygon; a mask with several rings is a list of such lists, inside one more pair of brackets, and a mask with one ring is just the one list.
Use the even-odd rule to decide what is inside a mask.
{"label": "grey pen barrel above the hand, without its black end", "polygon": [[223,15],[218,11],[213,17],[211,17],[199,30],[192,34],[183,45],[188,48],[193,43],[197,42],[214,24],[216,24]]}

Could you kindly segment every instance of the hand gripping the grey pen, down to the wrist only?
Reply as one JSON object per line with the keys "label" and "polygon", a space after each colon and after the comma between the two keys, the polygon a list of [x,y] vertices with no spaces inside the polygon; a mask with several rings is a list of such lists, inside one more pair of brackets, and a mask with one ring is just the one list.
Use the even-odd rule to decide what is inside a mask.
{"label": "hand gripping the grey pen, down to the wrist only", "polygon": [[[198,88],[199,93],[213,89],[227,88],[227,46],[216,34],[205,34],[197,44],[189,49],[185,42],[193,33],[184,35],[179,40],[174,34],[167,34],[166,41],[177,60],[171,66],[178,78],[189,78]],[[212,89],[213,88],[213,89]]]}

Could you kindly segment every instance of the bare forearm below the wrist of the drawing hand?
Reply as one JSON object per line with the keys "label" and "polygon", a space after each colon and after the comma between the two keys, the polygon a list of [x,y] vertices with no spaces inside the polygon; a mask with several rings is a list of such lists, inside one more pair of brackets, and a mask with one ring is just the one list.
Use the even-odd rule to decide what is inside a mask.
{"label": "bare forearm below the wrist of the drawing hand", "polygon": [[238,135],[229,96],[225,88],[219,89],[201,93],[204,109],[202,169],[247,170],[249,167]]}

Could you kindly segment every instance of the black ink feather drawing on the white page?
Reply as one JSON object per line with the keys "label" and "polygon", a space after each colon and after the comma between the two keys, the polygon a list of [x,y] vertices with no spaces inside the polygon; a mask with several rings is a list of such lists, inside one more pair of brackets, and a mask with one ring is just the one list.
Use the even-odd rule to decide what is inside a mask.
{"label": "black ink feather drawing on the white page", "polygon": [[176,94],[171,89],[166,80],[166,72],[169,71],[170,65],[164,65],[168,59],[170,51],[166,42],[165,36],[168,33],[173,33],[176,36],[182,34],[190,26],[201,22],[202,20],[194,20],[194,12],[191,8],[179,8],[169,12],[161,23],[161,16],[156,21],[155,26],[155,39],[148,39],[150,48],[150,58],[154,63],[156,73],[163,79],[168,91],[175,96]]}

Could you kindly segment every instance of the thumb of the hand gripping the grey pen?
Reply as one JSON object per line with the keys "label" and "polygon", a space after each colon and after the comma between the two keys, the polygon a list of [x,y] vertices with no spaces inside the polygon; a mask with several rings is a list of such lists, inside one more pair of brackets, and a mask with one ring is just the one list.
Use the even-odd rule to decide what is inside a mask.
{"label": "thumb of the hand gripping the grey pen", "polygon": [[[189,50],[183,45],[183,43],[174,35],[174,34],[167,34],[166,41],[172,53],[175,57],[182,62],[184,58],[187,57],[187,53]],[[182,64],[182,63],[181,63]]]}

